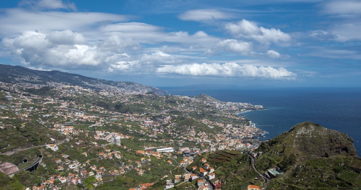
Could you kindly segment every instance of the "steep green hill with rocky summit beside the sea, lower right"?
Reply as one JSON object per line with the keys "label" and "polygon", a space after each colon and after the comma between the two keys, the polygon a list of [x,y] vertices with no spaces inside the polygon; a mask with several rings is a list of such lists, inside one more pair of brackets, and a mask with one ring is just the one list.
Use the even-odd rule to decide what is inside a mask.
{"label": "steep green hill with rocky summit beside the sea, lower right", "polygon": [[304,122],[262,143],[256,159],[261,172],[280,167],[284,174],[271,180],[268,189],[351,188],[361,186],[360,174],[349,164],[359,160],[347,134]]}

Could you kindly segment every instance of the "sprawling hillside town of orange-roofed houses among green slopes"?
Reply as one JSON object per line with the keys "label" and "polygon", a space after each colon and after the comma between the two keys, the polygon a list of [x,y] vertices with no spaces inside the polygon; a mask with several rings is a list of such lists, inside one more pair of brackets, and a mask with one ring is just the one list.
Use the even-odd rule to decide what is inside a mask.
{"label": "sprawling hillside town of orange-roofed houses among green slopes", "polygon": [[[20,136],[1,140],[0,146],[2,160],[13,160],[14,165],[21,161],[16,158],[26,157],[30,163],[43,156],[34,172],[38,182],[25,183],[33,190],[105,188],[135,175],[139,177],[124,189],[169,189],[192,186],[195,180],[193,186],[200,190],[220,189],[224,179],[201,155],[256,148],[264,132],[236,115],[262,106],[206,95],[26,87],[33,93],[21,84],[1,83],[1,132]],[[36,126],[41,132],[33,131]],[[195,159],[201,167],[188,170]]]}

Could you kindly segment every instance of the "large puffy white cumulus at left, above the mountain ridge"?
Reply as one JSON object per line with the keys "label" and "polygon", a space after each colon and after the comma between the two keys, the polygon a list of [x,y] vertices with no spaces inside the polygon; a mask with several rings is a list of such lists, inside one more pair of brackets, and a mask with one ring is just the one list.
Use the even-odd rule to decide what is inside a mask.
{"label": "large puffy white cumulus at left, above the mountain ridge", "polygon": [[54,31],[48,35],[25,32],[17,38],[2,39],[2,44],[26,64],[76,67],[94,66],[101,61],[97,47],[86,44],[81,34],[69,30]]}

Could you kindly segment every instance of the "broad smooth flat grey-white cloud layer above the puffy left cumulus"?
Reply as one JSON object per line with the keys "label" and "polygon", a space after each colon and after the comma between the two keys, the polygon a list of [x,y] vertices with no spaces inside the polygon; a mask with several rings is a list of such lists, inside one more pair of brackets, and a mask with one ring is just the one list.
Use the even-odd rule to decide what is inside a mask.
{"label": "broad smooth flat grey-white cloud layer above the puffy left cumulus", "polygon": [[100,25],[101,22],[119,22],[128,19],[129,16],[108,13],[4,9],[0,12],[0,38],[14,38],[27,31],[50,33],[57,30],[71,30],[97,38],[99,34],[94,34],[94,26]]}

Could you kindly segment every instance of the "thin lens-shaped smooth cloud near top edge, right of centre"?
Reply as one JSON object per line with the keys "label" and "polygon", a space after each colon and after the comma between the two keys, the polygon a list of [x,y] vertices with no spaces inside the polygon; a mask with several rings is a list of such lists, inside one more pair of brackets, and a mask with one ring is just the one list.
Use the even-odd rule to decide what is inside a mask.
{"label": "thin lens-shaped smooth cloud near top edge, right of centre", "polygon": [[186,11],[178,16],[184,21],[214,21],[230,19],[233,16],[229,13],[221,12],[217,9],[196,9]]}

